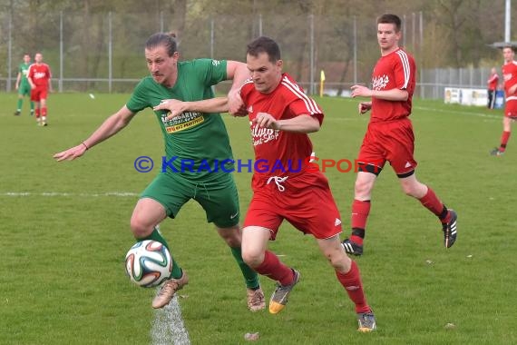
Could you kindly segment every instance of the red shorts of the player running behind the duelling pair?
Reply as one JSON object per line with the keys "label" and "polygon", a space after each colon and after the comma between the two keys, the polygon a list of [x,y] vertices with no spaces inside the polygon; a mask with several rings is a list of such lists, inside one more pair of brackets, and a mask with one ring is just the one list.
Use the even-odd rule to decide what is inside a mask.
{"label": "red shorts of the player running behind the duelling pair", "polygon": [[414,151],[415,134],[408,118],[369,123],[357,162],[382,169],[387,161],[395,173],[401,175],[415,170]]}

